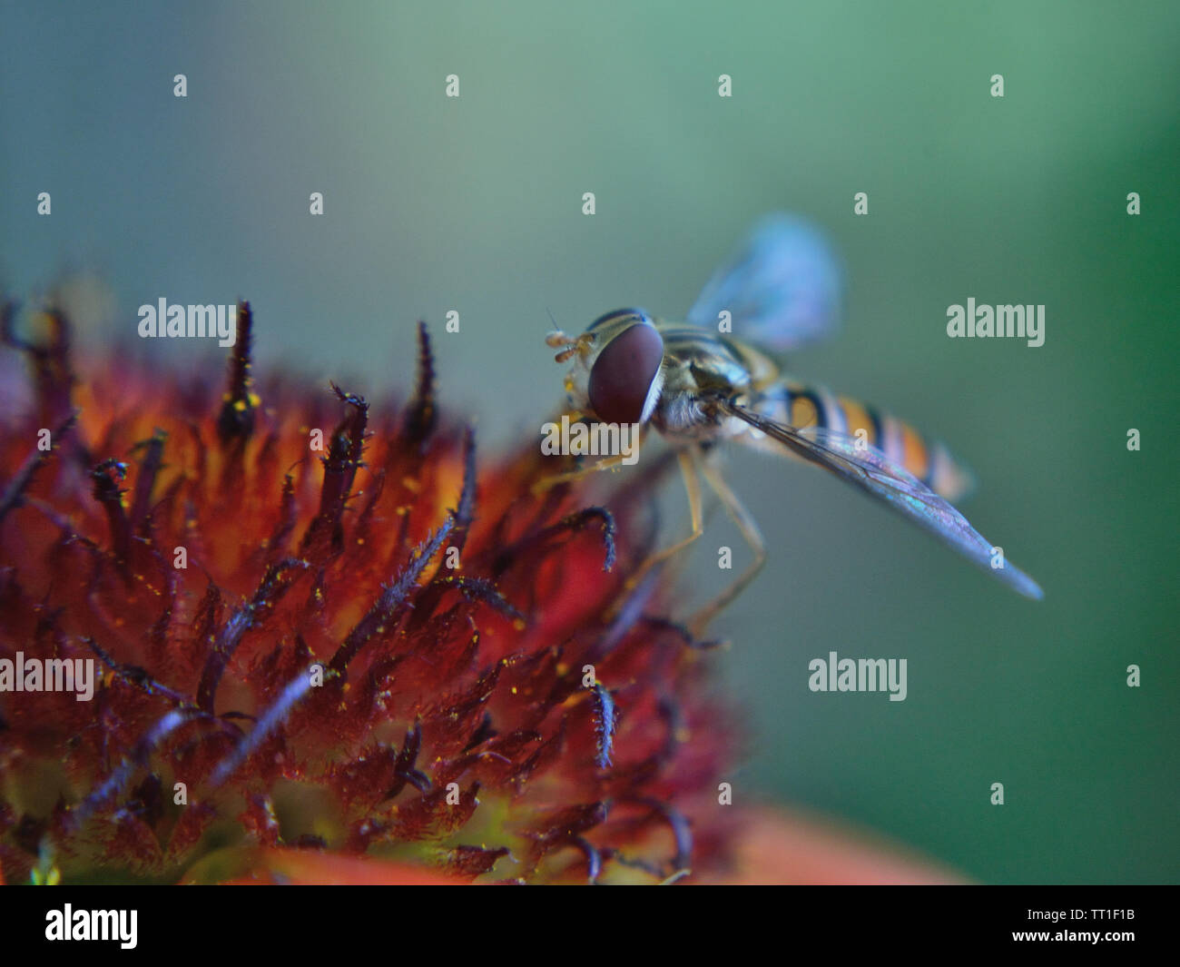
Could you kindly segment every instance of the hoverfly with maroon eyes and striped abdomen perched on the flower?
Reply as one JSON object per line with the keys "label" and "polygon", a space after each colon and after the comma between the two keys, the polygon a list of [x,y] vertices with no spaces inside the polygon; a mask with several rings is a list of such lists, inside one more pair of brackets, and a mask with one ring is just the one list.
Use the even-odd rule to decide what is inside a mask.
{"label": "hoverfly with maroon eyes and striped abdomen perched on the flower", "polygon": [[[701,536],[703,478],[754,554],[753,563],[691,620],[700,633],[754,579],[766,561],[758,525],[709,459],[714,443],[738,440],[805,460],[859,488],[984,568],[1040,599],[1043,592],[1003,561],[950,503],[971,489],[971,476],[942,444],[872,406],[796,381],[768,354],[793,351],[831,333],[839,272],[824,239],[806,223],[772,215],[722,264],[683,324],[643,309],[599,316],[579,337],[553,332],[575,417],[654,427],[675,449],[688,491],[691,534],[644,562],[641,573]],[[722,334],[729,321],[741,339]],[[768,352],[755,348],[759,344]],[[583,472],[608,469],[598,460]],[[557,478],[555,478],[557,479]],[[637,580],[637,579],[632,579]]]}

